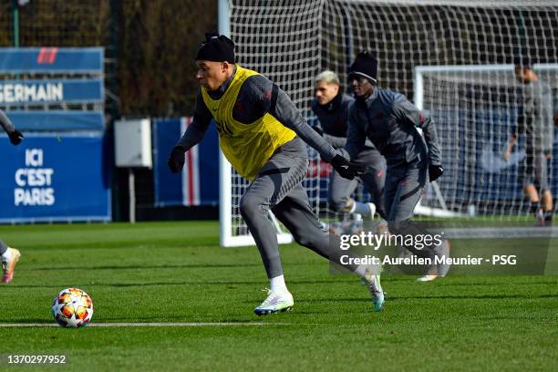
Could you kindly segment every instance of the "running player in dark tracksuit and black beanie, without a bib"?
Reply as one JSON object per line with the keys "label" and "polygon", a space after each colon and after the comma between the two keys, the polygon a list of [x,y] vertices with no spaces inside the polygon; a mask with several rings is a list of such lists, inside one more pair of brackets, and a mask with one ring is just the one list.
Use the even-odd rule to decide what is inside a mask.
{"label": "running player in dark tracksuit and black beanie, without a bib", "polygon": [[[365,149],[371,140],[386,158],[384,205],[389,232],[394,234],[428,234],[411,222],[413,210],[426,186],[427,176],[435,181],[443,173],[436,129],[431,119],[403,95],[377,87],[377,59],[367,52],[358,54],[349,68],[349,82],[356,101],[349,113],[346,150],[351,159]],[[418,132],[422,129],[423,135]],[[449,243],[429,244],[416,249],[405,246],[421,257],[449,256]],[[449,265],[430,268],[421,280],[444,276]]]}

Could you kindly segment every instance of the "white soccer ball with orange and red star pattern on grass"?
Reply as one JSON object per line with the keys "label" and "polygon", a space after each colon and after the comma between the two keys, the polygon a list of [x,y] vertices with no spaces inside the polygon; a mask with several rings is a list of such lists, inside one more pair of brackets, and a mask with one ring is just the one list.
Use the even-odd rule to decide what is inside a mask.
{"label": "white soccer ball with orange and red star pattern on grass", "polygon": [[66,288],[52,301],[50,312],[57,324],[68,328],[88,325],[93,316],[93,301],[79,288]]}

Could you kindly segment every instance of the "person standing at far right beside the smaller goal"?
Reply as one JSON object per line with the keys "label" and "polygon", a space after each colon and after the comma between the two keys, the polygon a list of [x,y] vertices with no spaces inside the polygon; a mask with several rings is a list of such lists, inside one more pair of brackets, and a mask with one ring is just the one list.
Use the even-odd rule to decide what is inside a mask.
{"label": "person standing at far right beside the smaller goal", "polygon": [[[523,97],[517,129],[511,135],[504,160],[517,145],[520,135],[525,136],[525,168],[522,172],[525,195],[537,205],[537,218],[541,225],[553,222],[553,195],[549,185],[548,163],[554,141],[553,91],[542,82],[528,62],[518,60],[515,76],[523,85]],[[538,191],[537,191],[538,187]]]}

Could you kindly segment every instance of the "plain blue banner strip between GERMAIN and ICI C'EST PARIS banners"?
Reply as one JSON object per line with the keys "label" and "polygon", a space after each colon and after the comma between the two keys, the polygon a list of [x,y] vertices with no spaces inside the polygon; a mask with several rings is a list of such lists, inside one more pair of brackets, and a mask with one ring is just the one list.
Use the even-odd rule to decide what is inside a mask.
{"label": "plain blue banner strip between GERMAIN and ICI C'EST PARIS banners", "polygon": [[103,130],[105,117],[102,111],[5,111],[19,130]]}

